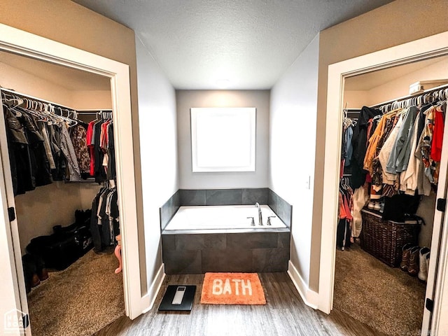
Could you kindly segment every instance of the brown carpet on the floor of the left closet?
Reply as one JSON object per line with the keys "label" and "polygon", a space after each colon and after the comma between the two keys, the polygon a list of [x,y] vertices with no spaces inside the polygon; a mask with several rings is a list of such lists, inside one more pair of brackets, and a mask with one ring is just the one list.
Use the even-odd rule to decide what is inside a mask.
{"label": "brown carpet on the floor of the left closet", "polygon": [[113,254],[89,251],[28,295],[33,336],[87,336],[125,315],[123,275]]}

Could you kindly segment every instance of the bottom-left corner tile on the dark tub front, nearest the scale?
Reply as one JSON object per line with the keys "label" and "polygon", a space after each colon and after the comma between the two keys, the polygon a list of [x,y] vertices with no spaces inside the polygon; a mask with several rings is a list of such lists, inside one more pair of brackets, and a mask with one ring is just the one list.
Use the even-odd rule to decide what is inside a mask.
{"label": "bottom-left corner tile on the dark tub front, nearest the scale", "polygon": [[198,274],[201,269],[201,251],[165,251],[166,274]]}

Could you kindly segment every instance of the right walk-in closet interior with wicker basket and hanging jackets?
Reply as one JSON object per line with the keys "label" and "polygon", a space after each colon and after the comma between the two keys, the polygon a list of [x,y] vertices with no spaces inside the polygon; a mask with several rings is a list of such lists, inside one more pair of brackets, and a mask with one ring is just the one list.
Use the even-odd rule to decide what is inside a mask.
{"label": "right walk-in closet interior with wicker basket and hanging jackets", "polygon": [[447,57],[346,78],[334,306],[420,335],[448,94]]}

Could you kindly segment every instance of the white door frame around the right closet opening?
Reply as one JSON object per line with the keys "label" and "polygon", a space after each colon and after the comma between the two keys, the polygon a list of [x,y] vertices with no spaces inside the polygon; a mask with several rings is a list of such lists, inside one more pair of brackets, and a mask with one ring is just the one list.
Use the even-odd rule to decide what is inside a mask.
{"label": "white door frame around the right closet opening", "polygon": [[[322,207],[321,260],[318,292],[318,309],[327,314],[330,314],[332,310],[335,285],[337,200],[342,141],[342,111],[344,109],[344,80],[345,78],[362,73],[387,69],[392,66],[417,62],[442,55],[448,55],[448,31],[328,66],[328,95],[325,120],[325,170],[323,177],[325,193],[323,195]],[[447,151],[448,148],[444,147],[445,162],[447,160]],[[440,182],[444,184],[444,181]],[[446,195],[446,186],[445,188],[439,189],[442,189],[441,193]],[[439,218],[438,223],[436,222],[437,216]],[[436,211],[436,218],[433,227],[430,275],[428,276],[428,284],[426,287],[426,297],[433,298],[435,304],[432,321],[428,309],[424,310],[421,335],[427,335],[429,328],[431,330],[430,335],[437,335],[437,329],[442,322],[440,319],[441,308],[442,305],[447,304],[444,301],[447,299],[444,299],[442,294],[444,290],[448,290],[448,284],[444,286],[444,283],[448,283],[448,258],[446,251],[448,232],[447,230],[442,230],[442,228],[447,227],[448,216],[443,216],[440,211]],[[440,241],[444,242],[442,246],[440,246]],[[434,257],[439,255],[439,248],[442,248],[440,252],[444,252],[444,254],[440,254],[440,258],[437,260]],[[438,273],[436,273],[437,267],[440,271]]]}

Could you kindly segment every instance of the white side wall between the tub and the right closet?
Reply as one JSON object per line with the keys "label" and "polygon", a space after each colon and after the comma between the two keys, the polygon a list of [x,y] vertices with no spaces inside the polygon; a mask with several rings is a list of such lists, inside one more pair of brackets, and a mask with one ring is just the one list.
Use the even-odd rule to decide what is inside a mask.
{"label": "white side wall between the tub and the right closet", "polygon": [[309,283],[319,36],[271,91],[269,188],[293,205],[290,261]]}

